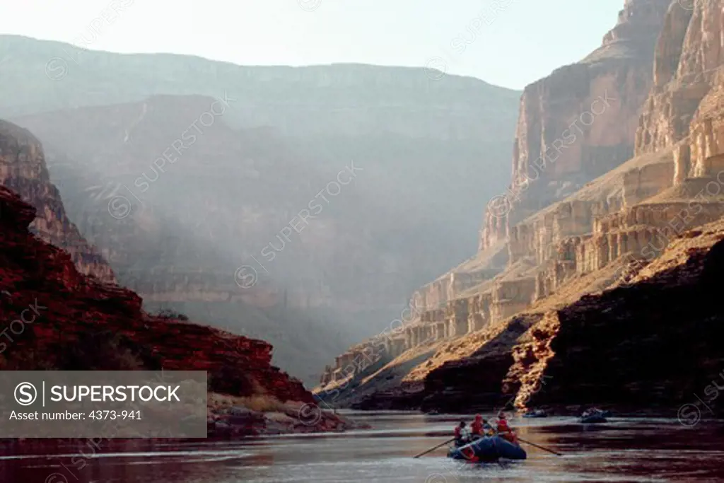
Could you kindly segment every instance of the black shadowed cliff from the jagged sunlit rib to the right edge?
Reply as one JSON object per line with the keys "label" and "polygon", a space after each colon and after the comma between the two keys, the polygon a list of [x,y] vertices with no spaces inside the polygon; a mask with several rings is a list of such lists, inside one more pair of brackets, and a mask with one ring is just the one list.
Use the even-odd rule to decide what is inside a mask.
{"label": "black shadowed cliff from the jagged sunlit rib to the right edge", "polygon": [[686,232],[627,286],[547,314],[511,352],[503,392],[519,408],[595,402],[686,426],[720,414],[723,240],[720,220]]}

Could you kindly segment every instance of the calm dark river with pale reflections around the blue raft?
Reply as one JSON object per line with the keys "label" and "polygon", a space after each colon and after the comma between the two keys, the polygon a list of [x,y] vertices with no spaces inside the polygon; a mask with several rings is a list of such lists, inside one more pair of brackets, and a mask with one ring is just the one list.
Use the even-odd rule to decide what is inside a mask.
{"label": "calm dark river with pale reflections around the blue raft", "polygon": [[[528,445],[522,462],[475,466],[445,458],[459,416],[349,413],[371,429],[236,442],[97,442],[28,449],[0,442],[0,481],[7,483],[282,483],[282,482],[712,482],[724,481],[724,421],[618,419],[584,427],[572,418],[512,419]],[[471,418],[468,418],[468,421]],[[38,445],[41,443],[38,442]],[[94,454],[95,453],[95,454]]]}

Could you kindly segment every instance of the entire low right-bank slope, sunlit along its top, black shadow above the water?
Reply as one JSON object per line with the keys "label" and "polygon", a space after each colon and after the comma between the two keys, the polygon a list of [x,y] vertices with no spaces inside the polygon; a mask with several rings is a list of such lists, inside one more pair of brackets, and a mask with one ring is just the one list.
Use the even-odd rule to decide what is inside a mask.
{"label": "entire low right-bank slope, sunlit along its top, black shadow above the water", "polygon": [[694,426],[723,411],[723,275],[719,220],[672,240],[625,284],[557,310],[534,306],[450,342],[392,389],[368,389],[353,406],[561,414],[595,404]]}

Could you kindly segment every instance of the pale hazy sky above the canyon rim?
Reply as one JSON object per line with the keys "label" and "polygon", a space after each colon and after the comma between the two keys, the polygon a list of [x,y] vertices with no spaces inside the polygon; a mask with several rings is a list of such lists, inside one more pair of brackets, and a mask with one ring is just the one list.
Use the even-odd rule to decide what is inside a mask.
{"label": "pale hazy sky above the canyon rim", "polygon": [[89,49],[236,64],[430,65],[523,88],[595,49],[622,7],[623,0],[15,0],[0,3],[0,33],[79,46],[85,36]]}

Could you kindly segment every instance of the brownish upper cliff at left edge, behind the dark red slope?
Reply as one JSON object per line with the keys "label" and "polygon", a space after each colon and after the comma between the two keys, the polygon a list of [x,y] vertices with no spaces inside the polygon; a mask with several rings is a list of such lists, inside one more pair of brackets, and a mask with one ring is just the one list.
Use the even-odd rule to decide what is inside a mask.
{"label": "brownish upper cliff at left edge, behind the dark red slope", "polygon": [[60,193],[49,178],[41,143],[27,130],[1,120],[0,183],[38,211],[40,216],[30,224],[33,232],[70,253],[81,273],[104,282],[114,281],[109,264],[68,219]]}

